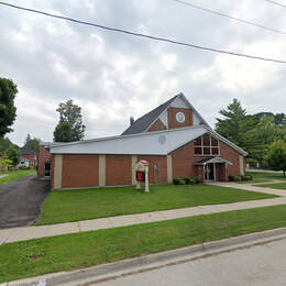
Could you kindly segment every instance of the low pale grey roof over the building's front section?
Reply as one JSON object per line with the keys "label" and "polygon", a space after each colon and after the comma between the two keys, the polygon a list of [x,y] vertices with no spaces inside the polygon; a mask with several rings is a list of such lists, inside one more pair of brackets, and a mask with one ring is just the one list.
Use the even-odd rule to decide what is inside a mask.
{"label": "low pale grey roof over the building's front section", "polygon": [[223,141],[242,155],[248,153],[205,125],[50,145],[52,154],[167,155],[205,133]]}

